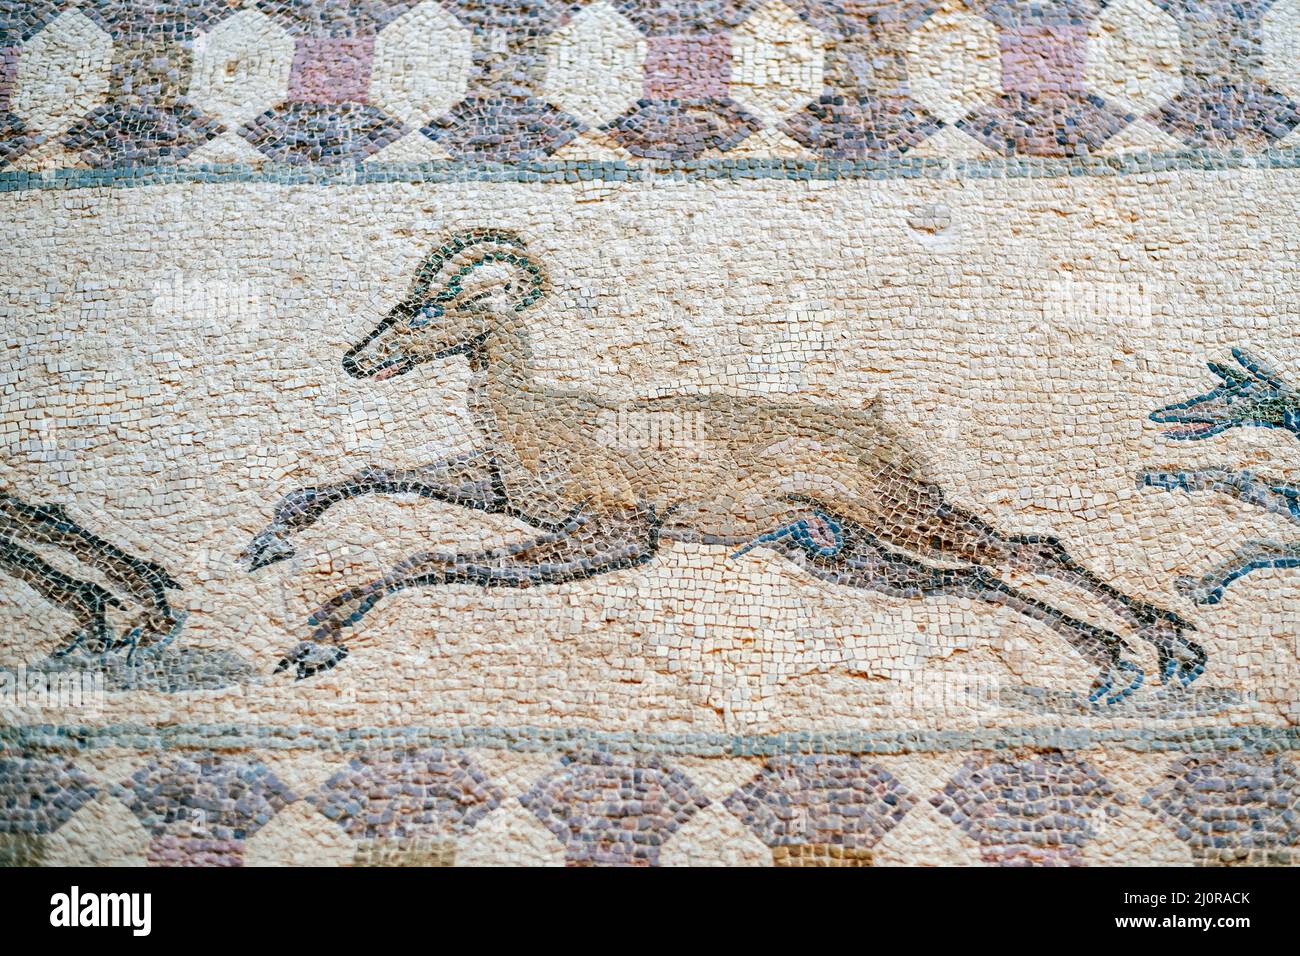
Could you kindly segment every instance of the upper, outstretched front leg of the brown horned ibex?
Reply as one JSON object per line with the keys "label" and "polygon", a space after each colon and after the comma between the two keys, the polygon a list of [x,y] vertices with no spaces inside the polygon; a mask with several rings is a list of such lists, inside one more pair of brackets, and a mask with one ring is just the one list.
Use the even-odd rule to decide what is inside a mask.
{"label": "upper, outstretched front leg of the brown horned ibex", "polygon": [[299,488],[286,494],[276,505],[270,524],[254,536],[239,559],[256,571],[292,557],[291,535],[316,524],[334,505],[364,494],[419,494],[478,511],[508,510],[499,471],[486,451],[419,468],[365,468],[332,485]]}

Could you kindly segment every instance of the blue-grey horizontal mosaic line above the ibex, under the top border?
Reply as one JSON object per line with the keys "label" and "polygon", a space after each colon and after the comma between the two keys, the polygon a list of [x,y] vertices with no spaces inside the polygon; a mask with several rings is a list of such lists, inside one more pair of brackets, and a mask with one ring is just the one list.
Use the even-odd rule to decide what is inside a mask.
{"label": "blue-grey horizontal mosaic line above the ibex, under the top border", "polygon": [[1262,152],[1178,150],[1086,159],[893,159],[793,160],[711,159],[694,161],[537,161],[537,163],[359,163],[348,165],[166,165],[109,169],[0,172],[0,193],[57,189],[125,189],[170,183],[242,183],[360,186],[384,182],[654,182],[656,179],[992,179],[1113,177],[1228,169],[1296,169],[1300,148]]}

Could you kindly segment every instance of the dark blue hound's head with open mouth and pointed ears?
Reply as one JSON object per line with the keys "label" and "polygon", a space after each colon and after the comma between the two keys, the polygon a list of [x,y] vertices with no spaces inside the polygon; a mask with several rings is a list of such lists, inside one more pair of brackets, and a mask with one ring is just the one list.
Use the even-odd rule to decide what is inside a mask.
{"label": "dark blue hound's head with open mouth and pointed ears", "polygon": [[1157,408],[1150,420],[1175,425],[1165,434],[1183,441],[1244,425],[1286,428],[1300,436],[1300,393],[1244,349],[1234,349],[1232,358],[1236,365],[1206,363],[1219,377],[1218,388]]}

